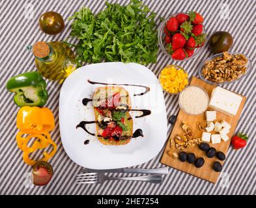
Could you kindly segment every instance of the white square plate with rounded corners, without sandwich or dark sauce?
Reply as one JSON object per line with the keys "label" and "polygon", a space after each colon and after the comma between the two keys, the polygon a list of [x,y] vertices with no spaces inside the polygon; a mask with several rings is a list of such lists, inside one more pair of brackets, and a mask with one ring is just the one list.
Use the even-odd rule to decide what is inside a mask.
{"label": "white square plate with rounded corners, without sandwich or dark sauce", "polygon": [[[95,85],[101,83],[146,85],[150,91],[143,96],[133,96],[144,88],[123,86],[128,90],[132,109],[149,109],[151,114],[135,118],[139,112],[130,112],[135,129],[143,130],[143,137],[132,138],[124,146],[106,146],[96,136],[76,129],[79,122],[93,121],[92,103],[83,105],[83,98],[91,98]],[[100,86],[100,85],[98,85]],[[59,123],[63,147],[72,161],[80,166],[94,169],[124,168],[147,162],[155,157],[164,146],[167,133],[167,118],[162,87],[148,68],[140,64],[106,62],[83,66],[73,72],[63,83],[59,99]],[[92,133],[96,132],[95,123],[87,125]],[[85,145],[85,140],[89,144]]]}

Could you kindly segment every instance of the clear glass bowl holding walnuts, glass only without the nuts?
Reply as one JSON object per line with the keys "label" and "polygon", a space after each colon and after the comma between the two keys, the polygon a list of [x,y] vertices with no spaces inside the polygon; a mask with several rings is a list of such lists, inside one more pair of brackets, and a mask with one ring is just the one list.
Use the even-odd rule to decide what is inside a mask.
{"label": "clear glass bowl holding walnuts, glass only without the nuts", "polygon": [[[240,75],[238,75],[238,79],[235,79],[233,81],[225,81],[222,83],[214,83],[212,81],[208,81],[207,79],[205,79],[205,77],[202,74],[202,70],[203,70],[203,66],[205,66],[205,62],[211,59],[214,59],[215,57],[220,57],[223,53],[217,53],[215,55],[212,55],[211,57],[209,57],[208,59],[205,59],[199,66],[199,70],[198,70],[198,74],[200,79],[202,79],[203,81],[205,81],[206,83],[210,83],[211,85],[224,85],[224,84],[230,84],[230,83],[235,83],[238,80],[241,80],[243,77],[245,77],[246,75],[248,75],[248,73],[251,71],[251,61],[249,60],[249,57],[244,55],[246,57],[246,59],[248,59],[248,63],[246,66],[246,72],[242,73]],[[229,54],[231,55],[236,55],[236,54],[242,54],[242,53],[236,53],[236,52],[229,52]]]}

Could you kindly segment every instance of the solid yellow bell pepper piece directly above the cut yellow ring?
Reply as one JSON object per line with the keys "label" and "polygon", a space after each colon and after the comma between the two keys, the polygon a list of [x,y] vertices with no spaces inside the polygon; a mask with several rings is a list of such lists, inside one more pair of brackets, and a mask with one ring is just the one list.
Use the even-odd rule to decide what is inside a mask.
{"label": "solid yellow bell pepper piece directly above the cut yellow ring", "polygon": [[16,124],[21,131],[33,130],[33,133],[51,131],[55,127],[53,113],[46,107],[21,107]]}

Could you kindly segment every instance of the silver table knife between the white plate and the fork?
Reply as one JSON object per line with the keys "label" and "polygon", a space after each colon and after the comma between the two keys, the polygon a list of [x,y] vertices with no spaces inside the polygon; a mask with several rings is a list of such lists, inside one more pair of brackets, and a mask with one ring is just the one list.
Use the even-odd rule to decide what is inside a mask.
{"label": "silver table knife between the white plate and the fork", "polygon": [[168,174],[169,168],[154,168],[154,169],[142,169],[142,168],[117,168],[117,169],[105,169],[105,170],[98,170],[98,169],[90,169],[90,168],[83,168],[81,172],[89,172],[89,173],[133,173],[133,174]]}

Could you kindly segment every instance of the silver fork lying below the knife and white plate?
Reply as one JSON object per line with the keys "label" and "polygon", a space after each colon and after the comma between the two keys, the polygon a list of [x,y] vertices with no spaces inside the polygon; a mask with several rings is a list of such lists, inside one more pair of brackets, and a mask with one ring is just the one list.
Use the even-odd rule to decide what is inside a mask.
{"label": "silver fork lying below the knife and white plate", "polygon": [[117,181],[145,181],[150,183],[162,183],[162,175],[143,175],[136,177],[108,177],[104,173],[87,173],[77,175],[76,183],[104,183],[109,180]]}

